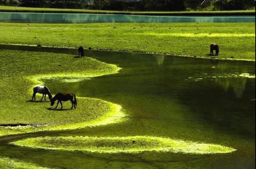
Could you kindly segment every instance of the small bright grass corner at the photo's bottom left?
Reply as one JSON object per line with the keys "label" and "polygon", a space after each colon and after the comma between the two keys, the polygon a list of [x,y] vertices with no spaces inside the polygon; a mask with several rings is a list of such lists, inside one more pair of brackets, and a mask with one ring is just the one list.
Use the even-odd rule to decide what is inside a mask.
{"label": "small bright grass corner at the photo's bottom left", "polygon": [[9,169],[9,168],[19,168],[19,169],[48,169],[46,167],[41,167],[39,165],[23,162],[20,160],[1,157],[0,156],[0,168],[2,169]]}

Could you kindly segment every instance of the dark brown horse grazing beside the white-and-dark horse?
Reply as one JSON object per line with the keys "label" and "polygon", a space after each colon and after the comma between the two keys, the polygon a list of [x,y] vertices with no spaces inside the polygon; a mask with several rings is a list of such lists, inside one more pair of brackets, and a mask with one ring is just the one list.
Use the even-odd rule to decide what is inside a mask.
{"label": "dark brown horse grazing beside the white-and-dark horse", "polygon": [[[74,101],[73,101],[73,98],[74,98]],[[76,109],[76,105],[77,105],[77,103],[76,103],[76,95],[73,94],[73,93],[58,93],[57,95],[55,95],[55,96],[52,98],[52,100],[51,100],[51,106],[54,105],[55,100],[58,100],[58,103],[57,103],[57,106],[56,106],[54,109],[56,109],[56,108],[58,107],[59,102],[60,102],[60,105],[61,105],[61,108],[60,108],[60,109],[62,109],[62,103],[61,103],[61,101],[66,102],[66,101],[68,101],[68,100],[70,100],[70,102],[72,103],[71,109],[73,109],[73,106],[74,106],[74,108]]]}

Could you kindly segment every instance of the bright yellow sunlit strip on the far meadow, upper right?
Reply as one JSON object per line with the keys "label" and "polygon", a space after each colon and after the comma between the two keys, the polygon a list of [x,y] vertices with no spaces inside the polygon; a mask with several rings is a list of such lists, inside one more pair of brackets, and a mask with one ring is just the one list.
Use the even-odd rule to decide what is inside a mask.
{"label": "bright yellow sunlit strip on the far meadow, upper right", "polygon": [[173,37],[255,37],[255,33],[137,33],[145,36],[173,36]]}

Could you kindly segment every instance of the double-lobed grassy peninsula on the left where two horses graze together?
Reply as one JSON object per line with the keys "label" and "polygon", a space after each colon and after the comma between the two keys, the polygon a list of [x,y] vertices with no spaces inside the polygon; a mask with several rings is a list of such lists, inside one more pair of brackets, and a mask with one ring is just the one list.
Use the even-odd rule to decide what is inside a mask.
{"label": "double-lobed grassy peninsula on the left where two horses graze together", "polygon": [[42,85],[45,78],[88,79],[117,73],[116,65],[56,53],[0,50],[0,57],[0,89],[5,91],[0,98],[0,124],[27,124],[0,126],[0,136],[103,125],[124,116],[119,105],[100,99],[78,97],[77,109],[72,110],[70,102],[63,102],[63,110],[52,109],[50,102],[38,102],[41,95],[37,102],[30,100],[33,86]]}

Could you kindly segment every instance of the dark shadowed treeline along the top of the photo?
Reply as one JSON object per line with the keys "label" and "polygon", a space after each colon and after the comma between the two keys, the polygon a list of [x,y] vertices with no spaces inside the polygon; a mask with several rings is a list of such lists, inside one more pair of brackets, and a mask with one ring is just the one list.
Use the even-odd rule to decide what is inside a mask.
{"label": "dark shadowed treeline along the top of the photo", "polygon": [[255,0],[0,0],[24,7],[117,11],[223,11],[255,9]]}

